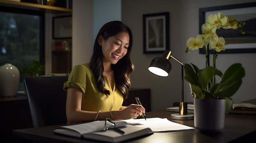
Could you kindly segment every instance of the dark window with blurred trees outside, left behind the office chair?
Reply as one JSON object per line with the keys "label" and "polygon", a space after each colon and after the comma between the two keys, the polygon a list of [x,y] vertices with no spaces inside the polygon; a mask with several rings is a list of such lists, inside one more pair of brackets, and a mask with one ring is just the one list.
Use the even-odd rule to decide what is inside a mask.
{"label": "dark window with blurred trees outside, left behind the office chair", "polygon": [[20,69],[34,59],[44,63],[44,30],[44,12],[0,7],[0,66],[10,63]]}

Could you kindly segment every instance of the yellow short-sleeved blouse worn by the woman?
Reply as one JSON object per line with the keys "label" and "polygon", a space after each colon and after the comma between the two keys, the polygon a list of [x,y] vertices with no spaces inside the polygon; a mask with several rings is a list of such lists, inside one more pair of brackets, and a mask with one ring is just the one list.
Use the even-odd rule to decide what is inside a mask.
{"label": "yellow short-sleeved blouse worn by the woman", "polygon": [[104,76],[104,79],[105,89],[110,91],[110,95],[105,95],[98,90],[94,74],[88,64],[76,65],[71,71],[68,81],[64,83],[63,89],[67,91],[67,88],[76,87],[83,91],[81,110],[119,110],[124,101],[124,96],[117,89],[115,82],[112,90],[106,76]]}

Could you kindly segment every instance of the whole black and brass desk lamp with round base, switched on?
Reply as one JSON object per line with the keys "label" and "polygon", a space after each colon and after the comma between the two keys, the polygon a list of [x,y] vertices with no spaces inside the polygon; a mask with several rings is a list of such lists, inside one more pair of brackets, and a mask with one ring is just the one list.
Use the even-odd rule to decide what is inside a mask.
{"label": "whole black and brass desk lamp with round base, switched on", "polygon": [[182,76],[182,78],[181,78],[181,82],[182,82],[182,88],[181,88],[182,97],[181,97],[181,99],[182,99],[182,101],[180,102],[179,113],[171,114],[171,118],[175,119],[175,120],[192,120],[192,119],[194,119],[194,115],[187,113],[188,112],[188,104],[187,104],[187,102],[184,102],[183,66],[185,64],[183,62],[180,62],[175,57],[173,57],[171,51],[166,50],[166,51],[164,51],[162,57],[156,57],[151,61],[148,70],[155,75],[167,77],[168,73],[170,73],[170,71],[171,71],[171,62],[169,61],[169,59],[171,57],[181,64],[181,70],[182,70],[182,75],[181,75]]}

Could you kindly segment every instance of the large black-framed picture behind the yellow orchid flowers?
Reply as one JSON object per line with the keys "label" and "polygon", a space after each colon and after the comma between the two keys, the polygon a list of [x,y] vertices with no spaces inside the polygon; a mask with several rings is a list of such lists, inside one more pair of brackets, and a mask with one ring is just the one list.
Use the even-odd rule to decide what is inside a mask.
{"label": "large black-framed picture behind the yellow orchid flowers", "polygon": [[[200,33],[202,33],[201,26],[206,22],[207,17],[218,12],[245,22],[243,27],[245,35],[237,29],[217,29],[216,33],[219,37],[224,37],[227,44],[224,46],[226,50],[218,53],[256,53],[256,2],[200,8]],[[199,53],[205,53],[204,49],[200,48]],[[210,50],[209,53],[213,51]]]}

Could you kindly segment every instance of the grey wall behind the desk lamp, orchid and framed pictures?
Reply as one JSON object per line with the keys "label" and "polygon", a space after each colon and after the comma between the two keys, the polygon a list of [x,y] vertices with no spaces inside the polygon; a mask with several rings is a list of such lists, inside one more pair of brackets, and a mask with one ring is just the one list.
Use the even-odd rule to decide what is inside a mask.
{"label": "grey wall behind the desk lamp, orchid and framed pictures", "polygon": [[[148,71],[148,66],[154,57],[162,54],[143,54],[143,14],[170,13],[170,48],[173,56],[184,63],[193,63],[204,68],[205,55],[199,51],[185,54],[186,40],[195,37],[199,31],[199,8],[213,7],[229,4],[255,2],[255,0],[122,0],[122,21],[133,32],[132,61],[135,71],[132,74],[133,88],[150,88],[152,110],[165,109],[172,105],[173,101],[181,101],[181,70],[180,64],[171,60],[172,70],[168,77],[159,77]],[[243,64],[246,76],[243,84],[232,97],[234,101],[254,99],[254,74],[256,53],[219,54],[217,67],[225,71],[231,64],[239,62]],[[184,81],[184,101],[193,101],[190,96],[190,88]]]}

